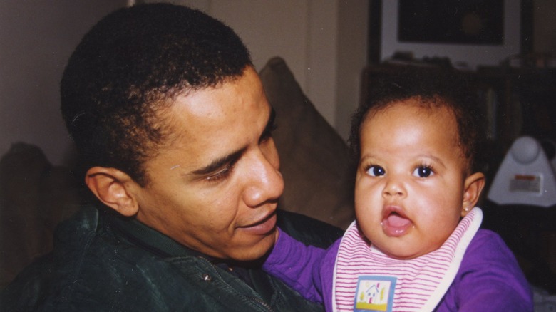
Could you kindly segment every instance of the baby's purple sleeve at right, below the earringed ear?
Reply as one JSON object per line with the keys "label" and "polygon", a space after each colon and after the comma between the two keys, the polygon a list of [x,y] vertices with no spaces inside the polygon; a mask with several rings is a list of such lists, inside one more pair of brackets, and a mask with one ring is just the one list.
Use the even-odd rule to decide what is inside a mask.
{"label": "baby's purple sleeve at right, below the earringed ear", "polygon": [[525,275],[498,234],[475,235],[438,311],[533,311]]}

